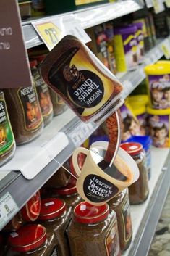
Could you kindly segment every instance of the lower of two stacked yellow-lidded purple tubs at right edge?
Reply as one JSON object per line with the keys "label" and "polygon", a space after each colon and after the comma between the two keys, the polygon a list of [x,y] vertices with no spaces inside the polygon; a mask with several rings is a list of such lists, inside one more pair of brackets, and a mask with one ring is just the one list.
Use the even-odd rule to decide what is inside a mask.
{"label": "lower of two stacked yellow-lidded purple tubs at right edge", "polygon": [[164,148],[170,146],[170,109],[155,110],[147,107],[150,136],[153,146]]}

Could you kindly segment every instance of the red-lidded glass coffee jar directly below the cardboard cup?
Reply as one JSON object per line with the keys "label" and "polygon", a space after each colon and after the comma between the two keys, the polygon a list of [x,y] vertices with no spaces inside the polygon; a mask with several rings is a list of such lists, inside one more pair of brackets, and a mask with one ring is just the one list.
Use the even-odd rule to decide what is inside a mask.
{"label": "red-lidded glass coffee jar directly below the cardboard cup", "polygon": [[68,237],[73,256],[121,255],[116,213],[109,205],[80,202],[69,224]]}

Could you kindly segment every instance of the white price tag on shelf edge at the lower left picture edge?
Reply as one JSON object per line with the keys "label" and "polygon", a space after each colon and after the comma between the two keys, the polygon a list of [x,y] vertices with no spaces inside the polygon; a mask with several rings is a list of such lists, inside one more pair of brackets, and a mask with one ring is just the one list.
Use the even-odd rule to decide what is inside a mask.
{"label": "white price tag on shelf edge at the lower left picture edge", "polygon": [[12,219],[14,215],[19,211],[19,208],[14,202],[11,194],[7,192],[4,197],[0,199],[0,230]]}

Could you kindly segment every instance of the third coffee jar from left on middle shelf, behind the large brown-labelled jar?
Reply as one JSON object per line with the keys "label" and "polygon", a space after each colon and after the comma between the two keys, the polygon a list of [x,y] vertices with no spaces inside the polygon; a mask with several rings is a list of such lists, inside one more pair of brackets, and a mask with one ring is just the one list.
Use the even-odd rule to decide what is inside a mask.
{"label": "third coffee jar from left on middle shelf, behind the large brown-labelled jar", "polygon": [[35,81],[35,88],[38,94],[38,100],[41,107],[41,114],[43,116],[44,126],[48,125],[53,118],[53,105],[51,102],[51,96],[48,90],[48,86],[44,83],[41,74],[36,68],[38,62],[36,60],[30,61],[31,73]]}

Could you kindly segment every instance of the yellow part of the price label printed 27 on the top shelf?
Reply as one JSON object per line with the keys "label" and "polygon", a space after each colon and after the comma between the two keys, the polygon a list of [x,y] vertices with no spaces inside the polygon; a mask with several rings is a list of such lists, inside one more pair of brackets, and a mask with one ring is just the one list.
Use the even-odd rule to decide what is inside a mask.
{"label": "yellow part of the price label printed 27 on the top shelf", "polygon": [[34,28],[37,30],[39,36],[41,36],[43,42],[46,44],[50,51],[63,36],[59,27],[57,27],[53,22],[35,24]]}

